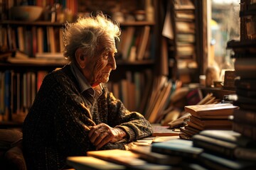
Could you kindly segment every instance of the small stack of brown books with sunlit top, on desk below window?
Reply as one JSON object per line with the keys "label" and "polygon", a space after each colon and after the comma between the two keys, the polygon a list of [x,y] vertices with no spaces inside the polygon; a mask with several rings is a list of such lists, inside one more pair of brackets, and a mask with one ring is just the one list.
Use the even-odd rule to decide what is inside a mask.
{"label": "small stack of brown books with sunlit top, on desk below window", "polygon": [[238,106],[231,103],[185,106],[184,110],[191,113],[187,125],[181,128],[180,137],[191,140],[193,135],[202,130],[231,130],[232,121],[229,116]]}

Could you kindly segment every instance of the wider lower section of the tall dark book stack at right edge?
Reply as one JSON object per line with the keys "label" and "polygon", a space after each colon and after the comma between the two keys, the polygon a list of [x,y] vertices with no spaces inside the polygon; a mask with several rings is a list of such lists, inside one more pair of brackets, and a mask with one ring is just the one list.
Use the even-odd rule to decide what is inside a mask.
{"label": "wider lower section of the tall dark book stack at right edge", "polygon": [[239,110],[234,111],[233,130],[256,140],[256,40],[228,42],[235,58],[235,94],[228,95]]}

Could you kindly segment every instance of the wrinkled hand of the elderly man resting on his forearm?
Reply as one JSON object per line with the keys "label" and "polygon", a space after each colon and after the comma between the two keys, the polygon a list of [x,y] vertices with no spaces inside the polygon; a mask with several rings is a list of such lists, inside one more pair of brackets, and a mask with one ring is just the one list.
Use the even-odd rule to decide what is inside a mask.
{"label": "wrinkled hand of the elderly man resting on his forearm", "polygon": [[111,128],[105,123],[92,126],[89,132],[90,142],[100,149],[108,142],[117,142],[126,136],[126,132],[120,128]]}

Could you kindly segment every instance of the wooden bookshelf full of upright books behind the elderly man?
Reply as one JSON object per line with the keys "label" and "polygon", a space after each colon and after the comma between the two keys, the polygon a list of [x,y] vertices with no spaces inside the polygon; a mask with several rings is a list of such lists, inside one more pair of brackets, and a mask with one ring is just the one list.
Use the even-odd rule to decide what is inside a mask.
{"label": "wooden bookshelf full of upright books behind the elderly man", "polygon": [[[68,8],[71,4],[65,4],[66,2],[62,1],[63,4],[60,6]],[[149,20],[146,14],[144,14],[144,19],[138,21],[134,11],[146,10],[144,9],[146,3],[151,4],[152,7],[153,4],[159,2],[155,0],[129,2],[109,0],[107,2],[107,6],[104,6],[106,5],[105,1],[97,1],[97,3],[90,0],[74,1],[76,7],[70,6],[70,9],[73,10],[73,21],[76,16],[82,15],[80,11],[83,11],[85,15],[88,12],[94,12],[95,3],[97,10],[102,10],[113,19],[115,10],[117,10],[112,6],[113,2],[117,3],[117,8],[122,6],[119,8],[124,15],[124,21],[119,22],[122,35],[127,35],[129,29],[132,30],[132,35],[127,37],[132,38],[133,43],[137,42],[137,44],[132,44],[132,41],[128,44],[127,37],[121,37],[121,40],[117,42],[119,48],[116,56],[117,69],[110,75],[107,86],[110,91],[114,91],[114,95],[120,98],[129,110],[138,111],[139,101],[144,96],[144,88],[147,84],[151,84],[154,76],[156,50],[153,50],[153,45],[156,45],[154,38],[157,35],[154,30],[156,21]],[[13,5],[15,3],[17,2],[15,1]],[[124,4],[127,3],[129,7],[126,8]],[[88,4],[90,5],[87,6]],[[11,6],[9,3],[5,3],[5,5],[3,10],[8,11]],[[42,6],[40,3],[30,5]],[[55,6],[55,4],[50,5]],[[56,14],[58,15],[58,13]],[[63,50],[61,33],[62,28],[65,27],[65,21],[58,22],[56,20],[58,16],[55,16],[55,20],[52,20],[53,18],[46,20],[41,16],[33,22],[15,21],[11,20],[9,12],[2,18],[4,19],[0,21],[0,45],[1,49],[6,47],[6,51],[4,51],[6,57],[0,57],[0,99],[3,101],[0,105],[0,124],[3,126],[0,128],[5,128],[22,125],[23,118],[28,113],[33,98],[40,88],[38,84],[42,81],[42,77],[66,64],[65,60],[57,58],[57,55],[59,56]],[[124,52],[121,43],[128,44],[127,51]],[[132,46],[137,49],[134,50],[134,58],[131,60],[131,55],[128,55],[131,52],[128,50],[131,50]],[[50,57],[39,60],[36,56],[42,52],[47,53]],[[57,55],[55,56],[55,54]],[[127,57],[124,58],[124,55]],[[55,57],[54,60],[53,57]],[[124,94],[128,92],[132,95]],[[143,109],[140,108],[140,111]]]}

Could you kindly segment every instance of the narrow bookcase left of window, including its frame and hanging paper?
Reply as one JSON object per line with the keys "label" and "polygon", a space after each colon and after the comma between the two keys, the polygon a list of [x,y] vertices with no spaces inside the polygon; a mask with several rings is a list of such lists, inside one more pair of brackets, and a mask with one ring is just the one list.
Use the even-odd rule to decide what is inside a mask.
{"label": "narrow bookcase left of window, including its frame and hanging paper", "polygon": [[[203,11],[205,1],[175,0],[164,1],[159,6],[161,52],[166,56],[167,72],[171,79],[179,79],[183,84],[198,83],[203,74],[206,58],[204,49],[207,40],[203,32]],[[165,30],[165,31],[164,31]]]}

